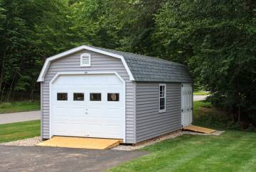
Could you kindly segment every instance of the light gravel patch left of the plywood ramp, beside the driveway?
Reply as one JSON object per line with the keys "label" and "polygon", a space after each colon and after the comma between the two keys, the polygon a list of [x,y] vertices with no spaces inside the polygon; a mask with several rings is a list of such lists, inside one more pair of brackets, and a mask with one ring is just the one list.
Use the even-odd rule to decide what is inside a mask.
{"label": "light gravel patch left of the plywood ramp, beside the driveway", "polygon": [[28,138],[28,139],[20,139],[14,142],[5,142],[1,143],[4,145],[11,145],[11,146],[25,146],[25,147],[33,147],[39,142],[42,142],[41,137],[33,137],[33,138]]}

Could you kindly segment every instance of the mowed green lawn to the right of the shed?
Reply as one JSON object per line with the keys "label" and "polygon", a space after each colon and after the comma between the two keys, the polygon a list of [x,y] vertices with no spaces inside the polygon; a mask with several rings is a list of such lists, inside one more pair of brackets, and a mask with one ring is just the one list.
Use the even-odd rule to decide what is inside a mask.
{"label": "mowed green lawn to the right of the shed", "polygon": [[[201,107],[194,102],[194,120]],[[150,154],[110,171],[256,171],[256,132],[226,130],[220,136],[184,134],[142,150]]]}

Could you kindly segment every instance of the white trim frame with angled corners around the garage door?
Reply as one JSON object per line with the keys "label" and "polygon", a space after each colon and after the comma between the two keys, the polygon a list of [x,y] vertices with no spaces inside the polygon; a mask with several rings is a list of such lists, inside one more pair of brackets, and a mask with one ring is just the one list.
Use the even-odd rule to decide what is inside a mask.
{"label": "white trim frame with angled corners around the garage door", "polygon": [[117,73],[117,71],[90,71],[90,72],[58,72],[57,74],[55,74],[55,76],[53,77],[53,79],[50,80],[50,83],[49,83],[49,119],[50,119],[50,122],[49,122],[49,137],[53,137],[53,124],[52,124],[52,120],[53,120],[53,117],[52,117],[52,108],[51,108],[51,98],[52,98],[52,93],[51,93],[51,88],[53,86],[53,82],[58,79],[58,76],[61,76],[61,75],[72,75],[72,74],[77,74],[77,75],[86,75],[86,74],[115,74],[123,83],[123,88],[122,88],[122,91],[123,91],[123,102],[124,102],[124,117],[122,119],[122,139],[123,139],[123,142],[125,143],[126,142],[126,84],[125,84],[125,81],[124,79],[122,79],[121,76],[119,76],[119,74]]}

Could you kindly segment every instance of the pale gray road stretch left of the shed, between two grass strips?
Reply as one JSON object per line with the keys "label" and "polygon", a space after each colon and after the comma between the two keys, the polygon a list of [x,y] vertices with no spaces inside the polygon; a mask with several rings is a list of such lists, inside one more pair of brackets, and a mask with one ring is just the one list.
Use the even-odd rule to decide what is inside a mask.
{"label": "pale gray road stretch left of the shed, between two grass strips", "polygon": [[27,120],[40,120],[40,110],[22,113],[1,113],[0,124],[22,122]]}

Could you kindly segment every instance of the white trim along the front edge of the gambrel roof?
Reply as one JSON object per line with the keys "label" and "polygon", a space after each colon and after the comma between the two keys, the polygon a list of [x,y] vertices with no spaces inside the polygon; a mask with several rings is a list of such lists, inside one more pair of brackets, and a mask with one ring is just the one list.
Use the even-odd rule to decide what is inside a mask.
{"label": "white trim along the front edge of the gambrel roof", "polygon": [[41,70],[41,73],[40,75],[38,76],[38,82],[42,82],[44,81],[44,77],[46,75],[46,71],[48,70],[48,67],[50,66],[50,62],[52,62],[53,60],[55,59],[60,59],[61,57],[65,57],[67,55],[70,55],[70,54],[73,54],[74,52],[78,52],[80,50],[90,50],[92,52],[98,52],[102,55],[108,55],[108,56],[111,56],[111,57],[116,57],[118,59],[121,59],[122,63],[124,64],[124,67],[125,69],[127,70],[127,73],[129,74],[129,80],[130,81],[134,81],[134,77],[132,76],[132,72],[130,71],[127,63],[125,62],[124,60],[124,57],[122,55],[117,55],[117,54],[114,54],[112,52],[106,52],[106,51],[103,51],[103,50],[99,50],[97,48],[94,48],[94,47],[88,47],[86,45],[82,45],[80,47],[75,47],[71,50],[68,50],[68,51],[65,51],[65,52],[61,52],[60,54],[58,55],[54,55],[52,57],[48,57],[46,59],[46,62],[43,64],[43,69]]}

